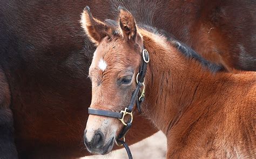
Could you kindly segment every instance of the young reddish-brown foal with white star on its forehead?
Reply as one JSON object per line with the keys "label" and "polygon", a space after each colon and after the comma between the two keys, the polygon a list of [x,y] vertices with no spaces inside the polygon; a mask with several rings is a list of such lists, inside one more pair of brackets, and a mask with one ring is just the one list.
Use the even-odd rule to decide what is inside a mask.
{"label": "young reddish-brown foal with white star on its forehead", "polygon": [[[186,45],[139,28],[123,8],[118,26],[93,18],[88,8],[81,21],[97,45],[91,108],[119,112],[129,105],[146,49],[142,112],[167,136],[167,158],[256,157],[256,72],[218,72]],[[89,115],[87,148],[108,153],[122,127],[117,119]]]}

